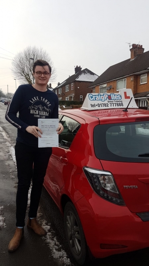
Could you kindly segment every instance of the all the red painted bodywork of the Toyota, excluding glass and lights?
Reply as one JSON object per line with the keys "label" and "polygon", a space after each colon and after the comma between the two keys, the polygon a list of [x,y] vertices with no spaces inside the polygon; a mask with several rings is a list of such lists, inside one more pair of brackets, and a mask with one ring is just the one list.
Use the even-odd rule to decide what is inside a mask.
{"label": "all the red painted bodywork of the Toyota, excluding glass and lights", "polygon": [[[61,212],[67,196],[79,214],[87,245],[96,258],[149,247],[149,221],[136,212],[149,212],[149,163],[115,162],[95,156],[94,128],[104,124],[149,120],[149,111],[108,109],[86,111],[70,109],[59,112],[81,123],[69,148],[53,148],[44,186]],[[108,171],[122,195],[125,206],[99,196],[88,181],[83,167]],[[102,249],[101,244],[124,248]]]}

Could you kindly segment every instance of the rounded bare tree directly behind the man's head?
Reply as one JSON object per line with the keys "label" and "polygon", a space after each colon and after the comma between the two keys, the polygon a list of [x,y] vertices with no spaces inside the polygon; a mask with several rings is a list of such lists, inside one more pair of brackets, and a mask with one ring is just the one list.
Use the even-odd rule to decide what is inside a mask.
{"label": "rounded bare tree directly behind the man's head", "polygon": [[33,84],[33,60],[42,59],[47,61],[51,68],[52,74],[50,78],[50,82],[54,82],[56,78],[56,69],[54,68],[54,63],[50,58],[49,54],[43,50],[42,48],[37,48],[36,46],[28,46],[22,52],[19,52],[13,59],[12,62],[12,72],[14,77],[19,80],[22,84]]}

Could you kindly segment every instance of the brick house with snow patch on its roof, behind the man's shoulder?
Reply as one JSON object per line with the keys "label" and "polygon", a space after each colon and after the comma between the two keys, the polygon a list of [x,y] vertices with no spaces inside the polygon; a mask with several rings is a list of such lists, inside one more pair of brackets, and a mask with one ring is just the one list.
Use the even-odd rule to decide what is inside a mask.
{"label": "brick house with snow patch on its roof, behind the man's shoulder", "polygon": [[75,67],[75,74],[69,76],[62,83],[58,83],[54,88],[58,99],[62,101],[84,101],[86,94],[92,92],[88,88],[98,75],[85,68],[81,70],[80,66]]}

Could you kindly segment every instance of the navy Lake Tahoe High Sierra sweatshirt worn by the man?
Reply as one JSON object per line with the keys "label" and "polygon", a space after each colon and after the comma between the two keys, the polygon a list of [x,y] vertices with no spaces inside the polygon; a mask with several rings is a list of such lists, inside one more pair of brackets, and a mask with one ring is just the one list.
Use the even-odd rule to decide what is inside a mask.
{"label": "navy Lake Tahoe High Sierra sweatshirt worn by the man", "polygon": [[38,118],[58,118],[58,97],[49,89],[41,92],[31,84],[21,85],[14,93],[5,118],[18,129],[16,141],[38,147],[38,138],[26,128],[38,126]]}

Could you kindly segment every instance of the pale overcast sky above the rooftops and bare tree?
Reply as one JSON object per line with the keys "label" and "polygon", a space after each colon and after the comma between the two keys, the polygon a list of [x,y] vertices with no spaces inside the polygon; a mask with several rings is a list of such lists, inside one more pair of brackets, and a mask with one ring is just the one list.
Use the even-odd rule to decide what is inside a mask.
{"label": "pale overcast sky above the rooftops and bare tree", "polygon": [[130,58],[127,43],[149,51],[148,28],[149,0],[1,0],[0,88],[15,92],[9,59],[28,45],[49,53],[55,88],[76,65],[100,75]]}

